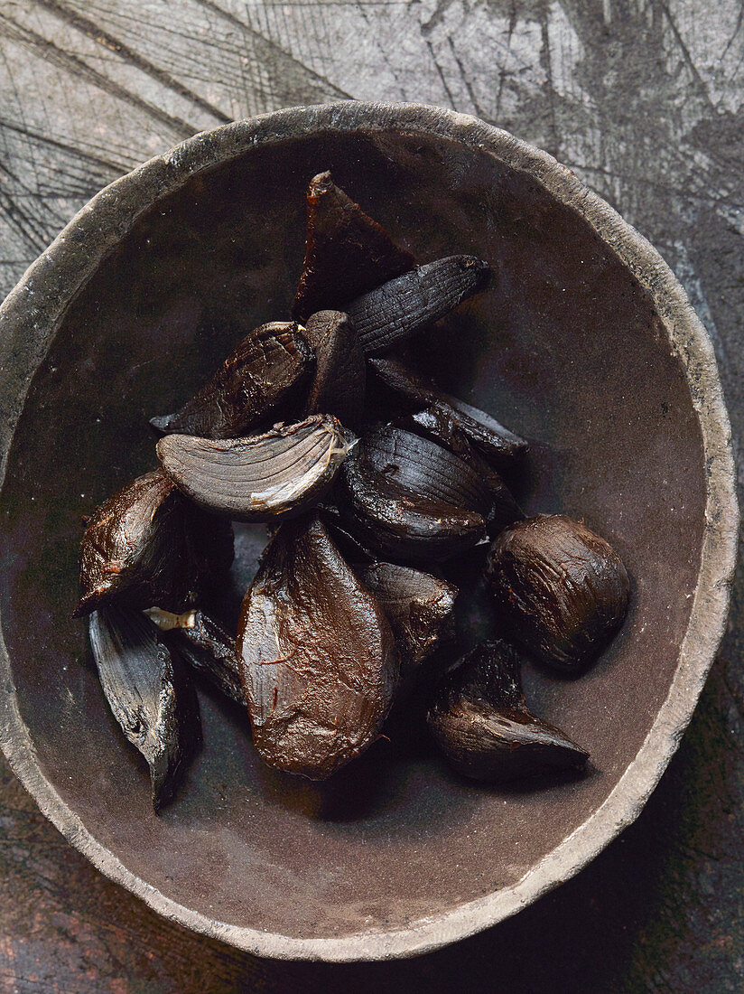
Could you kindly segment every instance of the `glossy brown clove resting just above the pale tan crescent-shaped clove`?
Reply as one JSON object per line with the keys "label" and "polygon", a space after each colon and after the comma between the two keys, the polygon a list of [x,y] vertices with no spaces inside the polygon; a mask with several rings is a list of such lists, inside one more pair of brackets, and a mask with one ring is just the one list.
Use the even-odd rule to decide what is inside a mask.
{"label": "glossy brown clove resting just above the pale tan crescent-shaped clove", "polygon": [[161,433],[232,438],[244,434],[298,390],[313,366],[313,352],[294,321],[255,328],[178,414],[153,417]]}

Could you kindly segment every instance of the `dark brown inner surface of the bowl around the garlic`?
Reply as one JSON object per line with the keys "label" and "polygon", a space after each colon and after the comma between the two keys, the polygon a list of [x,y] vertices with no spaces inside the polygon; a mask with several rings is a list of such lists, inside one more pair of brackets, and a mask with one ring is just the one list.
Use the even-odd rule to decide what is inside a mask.
{"label": "dark brown inner surface of the bowl around the garlic", "polygon": [[[527,509],[583,518],[633,577],[628,622],[583,680],[526,674],[537,713],[590,750],[592,771],[508,794],[460,781],[426,743],[393,735],[320,787],[265,767],[244,716],[203,694],[204,751],[158,818],[146,770],[108,714],[85,626],[70,618],[80,515],[152,468],[149,416],[186,400],[249,327],[286,316],[304,188],[327,168],[421,260],[469,251],[491,262],[494,286],[419,339],[416,359],[530,438]],[[365,935],[435,920],[534,873],[633,763],[670,694],[695,599],[704,462],[685,371],[652,297],[524,172],[415,129],[246,148],[156,203],[97,267],[15,432],[0,610],[41,770],[94,839],[177,905],[290,939],[356,934],[358,956],[379,955],[384,943],[365,948]],[[243,579],[257,541],[240,533]],[[466,593],[467,639],[490,618],[478,591]],[[695,693],[704,669],[690,674]],[[629,786],[632,800],[651,775]]]}

